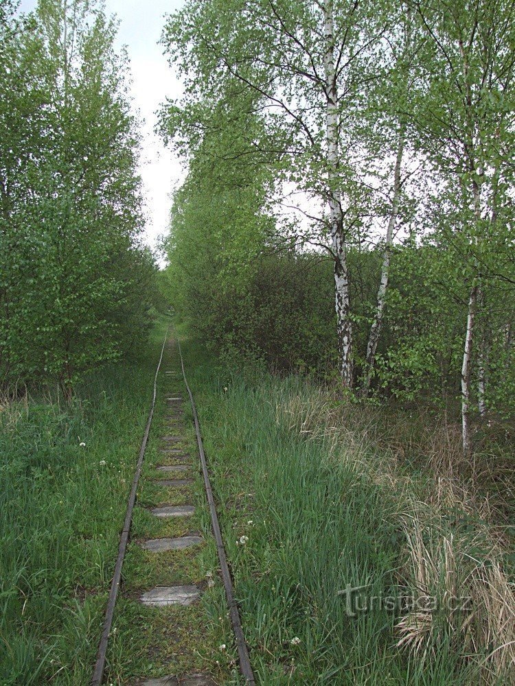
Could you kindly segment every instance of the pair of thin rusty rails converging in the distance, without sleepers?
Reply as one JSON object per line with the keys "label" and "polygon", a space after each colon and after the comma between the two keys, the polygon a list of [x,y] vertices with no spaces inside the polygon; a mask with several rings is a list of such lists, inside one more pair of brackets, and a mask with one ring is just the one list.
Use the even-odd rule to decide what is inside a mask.
{"label": "pair of thin rusty rails converging in the distance, without sleepers", "polygon": [[[109,641],[109,635],[111,633],[111,627],[113,626],[113,617],[115,614],[115,605],[118,596],[119,586],[122,581],[122,567],[124,564],[125,553],[130,536],[130,526],[133,519],[133,510],[136,503],[137,487],[139,484],[139,477],[141,475],[141,469],[143,466],[145,451],[148,444],[148,436],[150,435],[150,427],[152,426],[152,418],[154,416],[154,410],[156,405],[157,397],[157,378],[159,376],[159,371],[161,370],[161,363],[163,362],[163,354],[165,351],[165,345],[168,340],[167,329],[165,333],[165,338],[163,340],[163,346],[161,348],[161,355],[159,357],[159,362],[157,364],[157,369],[154,377],[154,385],[152,390],[152,403],[150,405],[150,412],[148,414],[148,420],[146,423],[145,433],[143,440],[141,441],[141,447],[139,449],[139,456],[136,465],[136,471],[133,479],[133,485],[130,489],[130,495],[127,502],[127,510],[124,519],[124,526],[120,534],[118,556],[115,563],[115,571],[113,574],[113,580],[111,582],[111,589],[109,591],[108,602],[106,607],[106,613],[104,616],[104,624],[102,626],[102,635],[100,637],[100,643],[98,646],[97,659],[95,662],[95,667],[93,669],[93,676],[91,677],[91,686],[101,686],[104,678],[104,670],[106,666],[106,655],[107,647]],[[175,332],[174,332],[175,333]],[[222,576],[222,581],[225,587],[225,595],[227,598],[227,605],[229,607],[229,615],[231,617],[231,624],[233,627],[234,637],[236,641],[236,648],[238,649],[238,659],[240,662],[240,671],[244,677],[247,684],[255,684],[254,675],[252,672],[251,662],[249,658],[249,650],[247,648],[247,643],[244,638],[244,633],[242,629],[240,613],[238,610],[238,604],[234,598],[233,584],[231,579],[231,573],[229,571],[229,565],[227,563],[227,555],[225,553],[225,546],[222,539],[222,533],[220,531],[220,524],[218,522],[218,514],[216,512],[216,504],[214,501],[213,491],[211,489],[211,482],[209,480],[209,471],[207,469],[207,462],[205,458],[205,451],[202,441],[201,426],[198,421],[198,414],[196,411],[196,405],[192,390],[187,383],[186,372],[184,368],[184,359],[181,350],[181,343],[179,338],[175,336],[177,343],[179,345],[179,357],[181,359],[181,371],[183,375],[184,384],[190,397],[190,403],[192,405],[192,412],[194,417],[195,434],[198,444],[198,452],[201,458],[201,468],[204,478],[205,492],[207,496],[207,502],[209,504],[209,512],[211,514],[211,527],[213,529],[213,534],[216,542],[216,549],[218,552],[218,560],[220,562],[220,573]]]}

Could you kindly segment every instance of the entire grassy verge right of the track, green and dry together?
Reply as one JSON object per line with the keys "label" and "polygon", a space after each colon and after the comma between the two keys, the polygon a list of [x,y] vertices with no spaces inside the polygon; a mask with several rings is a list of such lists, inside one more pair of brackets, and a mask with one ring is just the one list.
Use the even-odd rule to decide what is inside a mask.
{"label": "entire grassy verge right of the track, green and dry together", "polygon": [[512,683],[513,587],[488,525],[374,449],[358,406],[351,431],[315,386],[190,359],[259,683]]}

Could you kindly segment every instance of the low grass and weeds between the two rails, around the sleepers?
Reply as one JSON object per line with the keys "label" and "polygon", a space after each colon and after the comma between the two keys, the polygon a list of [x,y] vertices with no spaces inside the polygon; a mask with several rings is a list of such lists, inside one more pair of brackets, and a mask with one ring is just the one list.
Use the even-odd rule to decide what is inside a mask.
{"label": "low grass and weeds between the two rails, around the sleepers", "polygon": [[[198,469],[198,450],[193,416],[182,377],[165,375],[165,370],[179,372],[174,348],[167,346],[163,357],[163,373],[158,379],[156,412],[147,448],[144,468],[138,489],[131,541],[124,563],[122,598],[115,611],[113,632],[108,647],[106,683],[126,686],[141,676],[159,678],[168,674],[208,672],[224,683],[226,665],[220,662],[222,635],[227,607],[223,587],[216,583],[208,587],[207,572],[216,570],[217,556],[211,535],[211,520],[205,501],[203,480]],[[179,415],[176,406],[165,403],[165,397],[181,395],[183,403]],[[174,449],[181,449],[181,457],[167,452],[170,445],[165,435],[178,436]],[[177,463],[190,464],[185,474],[165,474],[157,466]],[[157,480],[192,478],[193,484],[161,486]],[[191,517],[157,519],[148,510],[166,504],[192,504],[196,510]],[[160,552],[146,551],[139,543],[146,539],[200,534],[204,541],[194,547]],[[196,584],[203,592],[199,602],[186,607],[145,607],[139,602],[144,591],[156,586]],[[216,608],[213,611],[213,608]],[[222,617],[222,619],[219,619]]]}

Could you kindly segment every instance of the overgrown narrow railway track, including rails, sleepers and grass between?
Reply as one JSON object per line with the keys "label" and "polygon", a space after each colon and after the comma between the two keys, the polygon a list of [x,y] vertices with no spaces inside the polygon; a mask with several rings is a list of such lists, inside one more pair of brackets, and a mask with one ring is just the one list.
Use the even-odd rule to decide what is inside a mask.
{"label": "overgrown narrow railway track, including rails, sleepers and grass between", "polygon": [[[123,686],[225,683],[227,665],[220,666],[216,653],[226,646],[216,643],[220,636],[227,640],[229,617],[241,672],[238,676],[232,663],[231,683],[243,683],[241,678],[254,683],[180,346],[179,358],[182,378],[174,342],[167,346],[165,338],[92,686],[100,686],[104,677],[107,683]],[[191,410],[183,407],[183,380]],[[157,398],[162,402],[156,405]],[[190,418],[192,422],[187,421]],[[196,447],[200,471],[192,457]],[[223,587],[211,571],[216,569],[217,554]]]}

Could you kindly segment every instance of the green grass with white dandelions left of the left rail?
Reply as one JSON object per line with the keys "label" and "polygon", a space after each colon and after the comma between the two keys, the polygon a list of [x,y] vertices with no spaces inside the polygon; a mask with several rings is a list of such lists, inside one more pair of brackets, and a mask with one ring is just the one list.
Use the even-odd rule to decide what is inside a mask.
{"label": "green grass with white dandelions left of the left rail", "polygon": [[88,683],[157,353],[0,403],[2,686]]}

